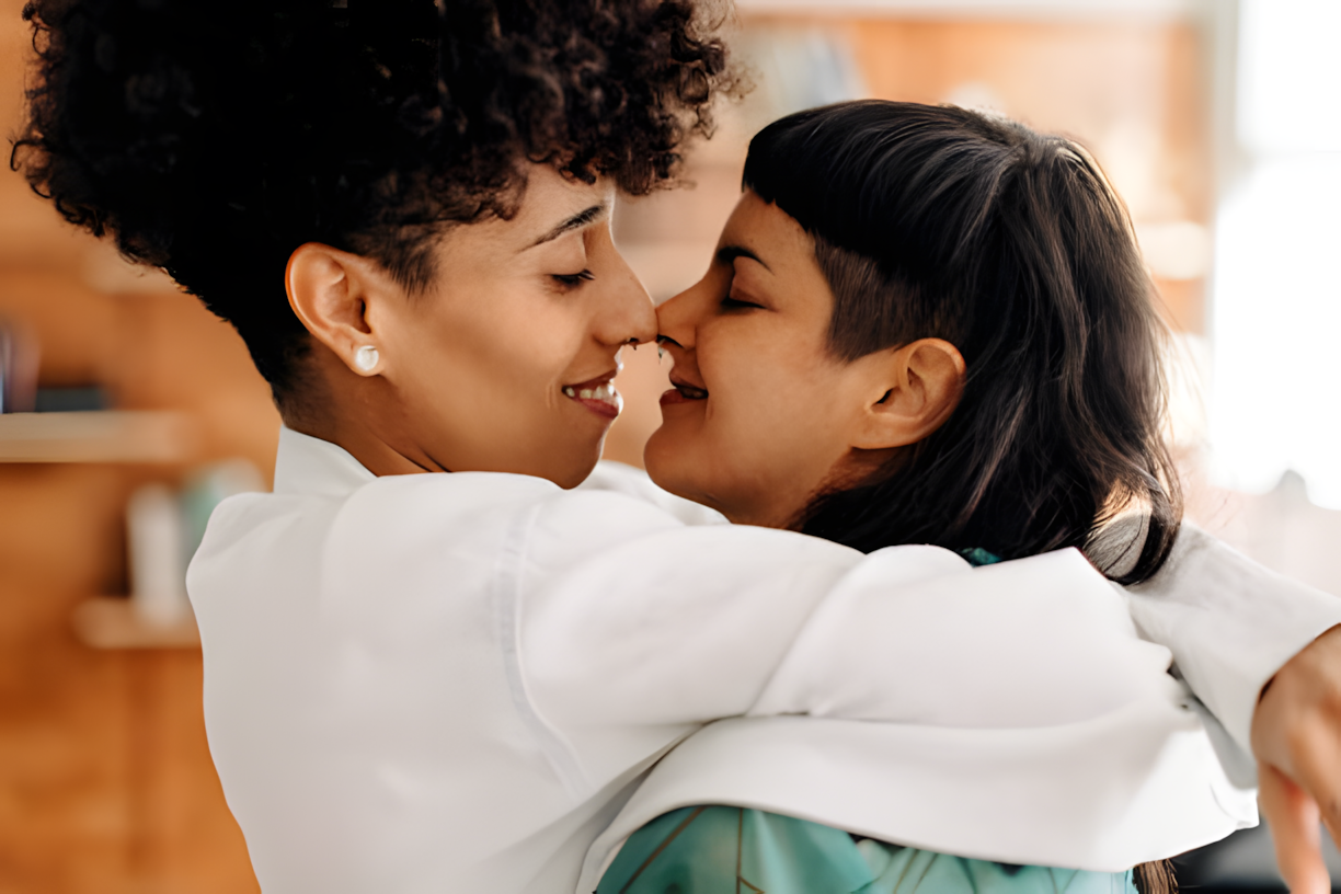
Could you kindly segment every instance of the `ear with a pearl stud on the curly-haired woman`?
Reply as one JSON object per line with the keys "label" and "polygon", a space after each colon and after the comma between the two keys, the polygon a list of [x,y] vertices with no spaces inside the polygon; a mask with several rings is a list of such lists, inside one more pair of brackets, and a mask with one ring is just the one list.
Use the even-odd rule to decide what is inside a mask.
{"label": "ear with a pearl stud on the curly-haired woman", "polygon": [[375,375],[382,358],[371,326],[370,303],[382,298],[389,277],[371,261],[320,243],[306,243],[288,256],[284,288],[288,306],[318,342],[358,375]]}

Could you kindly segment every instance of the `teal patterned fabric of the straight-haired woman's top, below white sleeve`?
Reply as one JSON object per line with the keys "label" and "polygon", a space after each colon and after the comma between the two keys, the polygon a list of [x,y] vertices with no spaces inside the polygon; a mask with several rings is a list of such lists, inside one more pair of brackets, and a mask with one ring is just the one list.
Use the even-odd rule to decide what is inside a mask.
{"label": "teal patterned fabric of the straight-haired woman's top, below white sleeve", "polygon": [[856,839],[740,807],[684,807],[634,832],[595,894],[1136,894],[1132,873],[1011,866]]}

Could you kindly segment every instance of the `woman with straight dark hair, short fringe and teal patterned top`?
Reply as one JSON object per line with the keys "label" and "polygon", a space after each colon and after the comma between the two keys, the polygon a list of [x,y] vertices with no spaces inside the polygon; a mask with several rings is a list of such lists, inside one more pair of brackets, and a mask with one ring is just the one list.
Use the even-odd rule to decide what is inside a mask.
{"label": "woman with straight dark hair, short fringe and teal patterned top", "polygon": [[[839,103],[760,131],[744,190],[707,276],[658,308],[675,390],[646,450],[657,484],[736,523],[868,554],[935,544],[991,564],[1073,547],[1114,582],[1155,575],[1181,520],[1165,330],[1126,212],[1080,145],[949,106]],[[898,649],[907,631],[888,635]],[[748,760],[766,763],[768,748],[752,741]],[[657,773],[711,775],[713,763],[681,757]],[[1167,862],[1022,867],[1046,847],[1011,850],[1006,830],[975,838],[970,816],[940,834],[892,822],[908,838],[886,844],[861,824],[748,810],[789,803],[778,763],[782,777],[734,791],[732,807],[685,806],[636,832],[598,891],[1172,885]],[[1069,773],[1065,759],[1055,772]],[[668,784],[657,773],[652,788]],[[1058,835],[1046,815],[1057,799],[1031,793],[1018,823]]]}

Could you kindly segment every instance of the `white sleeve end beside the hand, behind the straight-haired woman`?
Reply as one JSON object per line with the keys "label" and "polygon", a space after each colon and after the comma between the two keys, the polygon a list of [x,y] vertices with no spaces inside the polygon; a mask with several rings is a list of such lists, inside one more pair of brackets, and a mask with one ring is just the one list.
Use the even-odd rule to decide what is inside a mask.
{"label": "white sleeve end beside the hand, behind the straight-haired woman", "polygon": [[1341,599],[1283,578],[1191,524],[1165,566],[1128,588],[1141,634],[1251,753],[1262,686],[1301,649],[1341,625]]}

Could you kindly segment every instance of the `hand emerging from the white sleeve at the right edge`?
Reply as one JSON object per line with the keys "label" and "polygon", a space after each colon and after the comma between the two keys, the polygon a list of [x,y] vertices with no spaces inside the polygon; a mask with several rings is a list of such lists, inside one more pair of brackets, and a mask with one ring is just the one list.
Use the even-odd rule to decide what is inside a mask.
{"label": "hand emerging from the white sleeve at the right edge", "polygon": [[1341,847],[1341,627],[1291,658],[1252,716],[1258,799],[1293,894],[1329,894],[1318,819]]}

